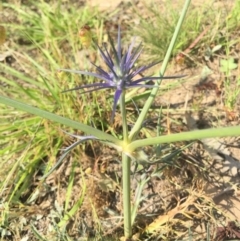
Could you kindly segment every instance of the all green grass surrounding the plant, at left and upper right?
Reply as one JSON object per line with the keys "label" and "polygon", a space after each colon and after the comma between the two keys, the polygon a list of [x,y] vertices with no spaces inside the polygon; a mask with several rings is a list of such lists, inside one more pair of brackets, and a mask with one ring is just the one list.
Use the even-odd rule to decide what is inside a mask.
{"label": "all green grass surrounding the plant, at left and upper right", "polygon": [[[78,57],[81,49],[78,31],[88,24],[93,29],[94,39],[101,44],[106,15],[90,7],[81,8],[67,3],[63,6],[61,1],[51,1],[51,7],[44,1],[30,1],[26,5],[20,4],[19,7],[7,3],[2,5],[11,15],[16,16],[16,19],[12,22],[1,23],[7,30],[9,49],[13,53],[15,62],[11,65],[0,63],[0,82],[6,85],[6,87],[1,87],[0,94],[118,135],[118,127],[112,128],[109,125],[112,103],[105,92],[96,92],[91,95],[78,95],[74,92],[61,93],[64,89],[81,83],[93,82],[94,79],[82,79],[81,76],[67,75],[57,71],[60,67],[90,68],[89,61],[83,61],[84,58]],[[141,28],[138,26],[133,29],[133,32],[143,39],[144,54],[149,61],[163,59],[179,17],[179,8],[173,9],[171,2],[166,8],[168,11],[159,14],[154,6],[147,6],[146,11],[150,19],[140,18]],[[219,17],[219,14],[222,15]],[[213,30],[204,36],[189,55],[194,59],[194,64],[201,64],[196,56],[204,55],[201,52],[201,46],[206,47],[214,43],[214,45],[223,46],[222,52],[218,55],[225,56],[236,43],[234,32],[239,30],[239,16],[239,1],[236,1],[236,7],[228,13],[228,17],[226,13],[219,13],[218,9],[209,9],[208,6],[192,8],[182,27],[173,56],[185,50],[209,22],[214,26]],[[227,37],[219,35],[220,31],[226,29]],[[130,34],[132,32],[126,33],[127,36]],[[93,48],[90,48],[88,52],[93,58],[98,59]],[[231,57],[229,53],[227,60]],[[231,92],[229,78],[233,70],[228,68],[222,71],[226,74],[224,101],[225,105],[231,109],[235,108],[240,93],[240,88]],[[237,83],[239,83],[239,76]],[[237,86],[239,87],[239,84]],[[136,99],[139,97],[135,93],[133,95]],[[68,224],[71,223],[73,226],[81,224],[79,210],[85,205],[84,197],[89,195],[87,190],[89,187],[84,182],[84,171],[82,168],[80,171],[76,169],[79,159],[83,158],[84,148],[85,151],[89,148],[94,149],[94,144],[78,147],[72,152],[71,156],[66,159],[66,162],[73,164],[68,170],[68,176],[57,177],[54,184],[46,185],[39,181],[39,177],[54,166],[60,157],[61,150],[72,140],[63,133],[62,126],[4,105],[1,105],[0,117],[2,240],[8,240],[10,231],[15,233],[15,240],[21,240],[25,214],[34,213],[31,207],[37,209],[36,200],[42,200],[56,189],[59,193],[62,192],[60,193],[63,195],[60,198],[62,203],[56,201],[53,204],[54,210],[51,215],[49,214],[50,224],[45,234],[40,233],[38,227],[32,222],[38,218],[37,216],[33,215],[34,218],[26,221],[29,230],[32,231],[31,240],[75,240],[70,234],[73,228],[69,228]],[[66,131],[73,132],[74,130]],[[79,176],[82,178],[78,179]],[[77,195],[74,189],[76,186],[79,191]],[[141,189],[141,183],[139,189]],[[94,201],[89,204],[96,223],[95,240],[101,240],[102,230],[94,205]],[[73,221],[73,217],[76,221]],[[80,235],[81,232],[75,233],[76,237]],[[107,239],[103,238],[103,240]]]}

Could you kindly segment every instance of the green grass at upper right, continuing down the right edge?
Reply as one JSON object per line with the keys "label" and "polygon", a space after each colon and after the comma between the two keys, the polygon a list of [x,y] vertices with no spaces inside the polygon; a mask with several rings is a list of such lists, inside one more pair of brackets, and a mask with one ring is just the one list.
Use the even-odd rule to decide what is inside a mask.
{"label": "green grass at upper right, continuing down the right edge", "polygon": [[[134,28],[134,32],[143,40],[146,49],[145,59],[157,61],[163,59],[179,18],[179,5],[181,3],[177,4],[177,7],[170,1],[166,2],[161,5],[163,9],[159,14],[159,5],[154,3],[151,5],[145,4],[148,13],[146,14],[148,17],[145,18],[142,17],[138,9],[135,9],[137,16],[140,18],[140,24]],[[229,111],[236,110],[240,98],[239,70],[238,72],[233,71],[238,68],[238,55],[236,52],[239,44],[237,35],[240,28],[239,14],[239,1],[235,1],[232,8],[227,8],[224,4],[220,7],[214,7],[212,2],[204,3],[201,7],[190,8],[172,52],[175,58],[179,53],[186,50],[204,29],[210,26],[210,30],[186,54],[183,61],[188,67],[204,66],[207,62],[204,62],[203,59],[206,60],[210,57],[220,62],[217,74],[223,75],[220,77],[223,79],[223,102]],[[216,49],[216,53],[212,52],[213,49]],[[231,61],[232,64],[229,64]],[[181,65],[182,63],[178,64]],[[171,65],[174,68],[176,63],[173,61]],[[223,65],[225,66],[223,67]],[[232,76],[236,76],[234,80]]]}

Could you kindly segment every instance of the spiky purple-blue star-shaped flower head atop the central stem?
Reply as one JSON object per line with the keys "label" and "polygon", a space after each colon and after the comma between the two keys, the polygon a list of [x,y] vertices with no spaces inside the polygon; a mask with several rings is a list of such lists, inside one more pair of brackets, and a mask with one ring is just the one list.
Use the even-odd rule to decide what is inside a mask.
{"label": "spiky purple-blue star-shaped flower head atop the central stem", "polygon": [[147,80],[149,81],[149,80],[157,80],[157,79],[175,79],[175,78],[182,77],[182,76],[167,76],[167,77],[145,76],[145,77],[140,77],[138,79],[134,79],[135,76],[151,68],[152,66],[158,64],[158,62],[149,64],[149,65],[143,65],[139,68],[134,68],[134,64],[136,63],[136,61],[138,60],[142,52],[142,49],[143,49],[142,44],[140,43],[134,49],[135,41],[133,40],[128,50],[126,51],[126,53],[123,54],[122,46],[121,46],[120,27],[118,28],[117,48],[114,46],[114,42],[111,39],[111,37],[109,37],[109,40],[110,40],[110,45],[114,56],[113,58],[111,57],[109,51],[107,50],[106,45],[104,45],[103,48],[100,48],[99,45],[97,45],[101,53],[101,56],[108,67],[108,71],[105,71],[103,68],[95,65],[94,63],[92,64],[96,67],[97,73],[81,71],[81,70],[70,70],[70,69],[60,69],[60,70],[81,74],[81,75],[89,75],[89,76],[93,76],[103,80],[103,82],[81,85],[72,89],[65,90],[63,92],[90,88],[89,90],[83,91],[82,92],[83,94],[83,93],[92,92],[92,91],[101,90],[101,89],[108,89],[108,88],[115,89],[111,121],[114,118],[118,100],[124,90],[130,89],[130,88],[139,88],[139,87],[146,87],[146,88],[158,87],[157,85],[142,84],[142,82]]}

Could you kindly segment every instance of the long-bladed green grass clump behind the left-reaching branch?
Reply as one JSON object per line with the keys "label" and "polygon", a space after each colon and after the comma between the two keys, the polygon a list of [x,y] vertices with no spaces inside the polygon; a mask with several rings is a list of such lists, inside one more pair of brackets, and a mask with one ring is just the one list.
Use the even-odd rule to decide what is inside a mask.
{"label": "long-bladed green grass clump behind the left-reaching branch", "polygon": [[[1,94],[107,129],[106,119],[111,113],[107,110],[109,101],[105,95],[94,93],[79,97],[77,94],[61,94],[64,88],[76,83],[91,83],[93,78],[81,79],[57,71],[60,66],[79,68],[79,64],[89,65],[85,62],[86,58],[78,56],[82,51],[78,32],[88,24],[99,34],[104,16],[96,8],[77,8],[74,4],[63,5],[59,1],[52,1],[51,7],[44,1],[17,7],[8,3],[2,5],[4,11],[16,16],[16,19],[12,23],[3,23],[7,32],[5,47],[10,50],[13,62],[0,63],[0,83],[4,86]],[[97,40],[101,42],[101,39]],[[88,52],[91,54],[92,50]],[[44,192],[39,175],[55,164],[61,150],[71,140],[63,135],[58,125],[42,118],[6,106],[1,106],[0,115],[2,203],[10,207],[13,203],[17,206],[19,203],[33,204],[41,199],[41,192]],[[72,157],[77,160],[83,148],[77,148]],[[73,195],[70,189],[68,196]],[[81,203],[77,203],[79,207]],[[73,215],[76,205],[70,208],[66,203],[65,211]],[[66,222],[67,214],[61,219]],[[12,220],[10,215],[2,224],[8,226]]]}

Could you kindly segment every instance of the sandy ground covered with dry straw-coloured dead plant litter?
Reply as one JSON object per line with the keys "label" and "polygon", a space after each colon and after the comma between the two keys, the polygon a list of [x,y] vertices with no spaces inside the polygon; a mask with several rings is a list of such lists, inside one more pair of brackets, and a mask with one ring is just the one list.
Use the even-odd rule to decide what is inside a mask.
{"label": "sandy ground covered with dry straw-coloured dead plant litter", "polygon": [[[223,7],[227,11],[231,9],[234,2],[213,1],[212,7]],[[124,22],[132,17],[128,5],[121,1],[109,1],[102,4],[102,1],[90,0],[88,4],[99,5],[102,11],[111,12],[116,7],[122,9],[109,20],[115,21],[116,24],[119,20]],[[159,9],[165,11],[164,1],[158,1],[158,4]],[[193,2],[195,7],[203,4],[205,1]],[[137,6],[144,13],[143,5],[138,3]],[[83,55],[79,54],[80,62]],[[237,45],[234,45],[231,54],[236,59],[240,57]],[[186,81],[181,83],[177,89],[164,91],[164,94],[160,95],[154,104],[156,109],[159,106],[165,109],[161,123],[166,128],[165,134],[216,126],[240,125],[240,97],[237,98],[231,110],[224,104],[225,76],[219,70],[219,60],[224,57],[223,54],[215,56],[213,61],[204,61],[203,58],[199,60],[198,57],[189,54],[191,64],[185,61],[180,63],[177,57],[179,56],[174,56],[166,74],[186,75]],[[160,65],[157,66],[156,71],[159,67]],[[240,64],[238,63],[238,68],[232,73],[232,88],[236,87],[239,72]],[[165,85],[167,86],[167,83],[163,83],[163,89]],[[149,123],[148,131],[155,127],[154,121]],[[183,146],[188,144],[184,143]],[[171,145],[170,148],[172,151],[177,151],[180,146]],[[163,147],[162,157],[169,153],[168,148],[169,146]],[[167,240],[175,240],[176,237],[186,238],[189,234],[188,227],[191,227],[193,233],[198,233],[196,239],[193,237],[193,240],[205,239],[208,228],[211,230],[212,239],[214,235],[217,236],[214,239],[216,241],[227,240],[228,237],[240,239],[239,228],[231,223],[232,221],[240,222],[239,148],[240,138],[206,139],[194,142],[181,154],[176,153],[174,158],[169,159],[172,162],[171,165],[154,159],[155,150],[146,148],[144,151],[151,161],[154,160],[156,163],[143,165],[132,175],[132,190],[139,188],[139,182],[143,178],[149,178],[142,190],[144,201],[138,212],[137,225],[134,230],[135,240],[137,237],[140,237],[140,240],[162,240],[159,233],[162,237],[167,237]],[[82,192],[84,180],[87,183],[86,193],[89,199],[84,202],[81,212],[69,222],[67,227],[69,235],[73,237],[72,240],[88,240],[87,236],[94,237],[98,232],[103,234],[102,240],[107,240],[107,237],[112,235],[121,236],[123,222],[119,218],[122,215],[119,180],[122,174],[119,155],[114,150],[96,144],[93,149],[89,147],[89,150],[87,149],[79,159],[82,168],[77,167],[75,170],[74,193]],[[32,209],[38,209],[32,210],[34,217],[31,221],[44,235],[51,233],[49,227],[52,225],[52,220],[57,223],[58,214],[62,212],[61,207],[65,203],[66,183],[71,175],[72,163],[73,160],[70,158],[46,179],[41,187],[41,198],[32,205],[33,207],[30,206]],[[89,168],[94,172],[89,174]],[[163,169],[161,175],[158,173],[160,169]],[[158,175],[154,175],[155,173]],[[58,186],[57,191],[56,186]],[[71,205],[76,203],[78,198],[78,196],[73,196]],[[38,211],[38,216],[36,216]],[[27,213],[31,213],[30,210],[27,210]],[[22,220],[21,225],[24,226],[24,222],[28,221]],[[156,229],[158,234],[154,233]],[[151,239],[149,235],[147,239],[141,236],[143,230],[155,236],[153,235]],[[30,237],[28,240],[34,240],[29,230],[26,230],[26,233]],[[79,236],[81,236],[80,239]],[[64,239],[50,237],[48,240]]]}

